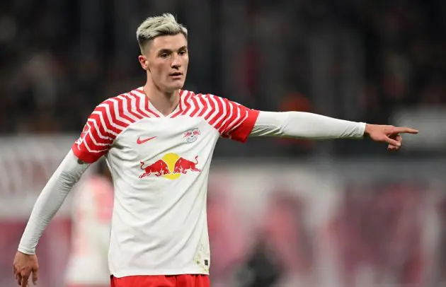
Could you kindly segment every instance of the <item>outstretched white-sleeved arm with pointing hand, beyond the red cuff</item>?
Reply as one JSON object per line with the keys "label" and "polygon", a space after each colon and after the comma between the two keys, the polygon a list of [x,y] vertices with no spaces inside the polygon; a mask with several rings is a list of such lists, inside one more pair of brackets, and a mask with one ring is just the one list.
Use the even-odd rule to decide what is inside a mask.
{"label": "outstretched white-sleeved arm with pointing hand, beyond the red cuff", "polygon": [[250,136],[281,136],[296,139],[360,139],[366,134],[384,141],[390,149],[401,146],[399,134],[416,134],[416,129],[334,119],[310,112],[259,112]]}

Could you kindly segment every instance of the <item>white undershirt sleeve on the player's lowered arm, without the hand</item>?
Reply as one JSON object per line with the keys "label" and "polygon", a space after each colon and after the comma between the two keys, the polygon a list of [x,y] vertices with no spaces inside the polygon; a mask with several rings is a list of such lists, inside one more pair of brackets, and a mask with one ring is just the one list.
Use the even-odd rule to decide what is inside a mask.
{"label": "white undershirt sleeve on the player's lowered arm, without the hand", "polygon": [[69,151],[35,202],[21,242],[18,245],[18,251],[25,254],[35,253],[35,247],[43,231],[60,209],[67,194],[86,168],[88,168],[88,163],[80,162],[74,156],[74,153]]}

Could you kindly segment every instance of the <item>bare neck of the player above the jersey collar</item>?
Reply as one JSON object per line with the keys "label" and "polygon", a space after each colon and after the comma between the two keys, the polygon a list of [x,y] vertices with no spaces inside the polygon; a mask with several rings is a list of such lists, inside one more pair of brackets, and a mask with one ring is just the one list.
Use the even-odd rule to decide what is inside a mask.
{"label": "bare neck of the player above the jersey collar", "polygon": [[149,97],[151,105],[165,116],[170,115],[180,102],[180,90],[166,93],[149,80],[144,85],[144,93]]}

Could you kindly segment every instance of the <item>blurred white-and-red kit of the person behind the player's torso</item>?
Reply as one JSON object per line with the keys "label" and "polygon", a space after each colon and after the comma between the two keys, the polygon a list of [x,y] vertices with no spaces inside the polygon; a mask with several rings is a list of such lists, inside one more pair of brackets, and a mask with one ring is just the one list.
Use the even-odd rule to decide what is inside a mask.
{"label": "blurred white-and-red kit of the person behind the player's torso", "polygon": [[113,185],[92,175],[76,188],[72,213],[72,250],[66,271],[71,285],[108,286],[107,254],[113,211]]}

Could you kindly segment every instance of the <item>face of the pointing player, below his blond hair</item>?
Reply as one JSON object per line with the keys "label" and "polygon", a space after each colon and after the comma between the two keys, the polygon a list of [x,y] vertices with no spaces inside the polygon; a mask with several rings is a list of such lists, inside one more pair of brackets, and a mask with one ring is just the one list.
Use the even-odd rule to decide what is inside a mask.
{"label": "face of the pointing player, below his blond hair", "polygon": [[138,59],[160,90],[172,93],[183,88],[189,64],[188,42],[183,34],[156,37]]}

